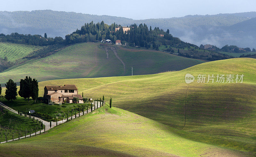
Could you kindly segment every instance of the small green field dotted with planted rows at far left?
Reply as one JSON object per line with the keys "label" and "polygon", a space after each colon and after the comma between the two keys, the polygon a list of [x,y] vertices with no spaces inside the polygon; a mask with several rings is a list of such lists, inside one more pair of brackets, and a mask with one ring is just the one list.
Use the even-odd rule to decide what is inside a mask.
{"label": "small green field dotted with planted rows at far left", "polygon": [[25,45],[19,43],[0,42],[0,57],[7,57],[10,61],[15,61],[27,56],[29,53],[42,48],[41,46]]}

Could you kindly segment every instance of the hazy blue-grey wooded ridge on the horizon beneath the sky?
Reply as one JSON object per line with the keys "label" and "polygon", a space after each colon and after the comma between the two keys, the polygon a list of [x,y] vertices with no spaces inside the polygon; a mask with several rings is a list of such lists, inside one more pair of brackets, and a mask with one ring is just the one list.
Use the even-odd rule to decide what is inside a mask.
{"label": "hazy blue-grey wooded ridge on the horizon beneath the sky", "polygon": [[[15,11],[0,12],[0,33],[10,34],[18,32],[22,34],[40,34],[46,32],[49,37],[62,36],[72,33],[76,28],[80,29],[84,23],[91,21],[112,24],[116,22],[122,26],[133,23],[146,23],[148,26],[159,27],[164,30],[169,29],[174,36],[181,40],[200,44],[213,44],[222,47],[225,44],[233,44],[234,37],[237,34],[225,34],[229,32],[229,26],[256,18],[256,12],[242,12],[233,14],[216,15],[187,15],[180,18],[161,18],[133,20],[124,17],[108,15],[90,15],[76,12],[62,12],[52,10],[36,11]],[[211,32],[209,33],[209,30]],[[253,31],[255,29],[252,29]],[[239,30],[237,30],[239,31]],[[223,34],[224,33],[224,34]],[[228,36],[228,38],[227,38]],[[239,39],[241,37],[241,39]],[[250,41],[254,42],[254,37],[246,40],[248,35],[240,35],[237,39],[239,47],[253,47]],[[245,39],[245,40],[244,40]],[[230,42],[231,41],[231,42]],[[235,44],[235,43],[234,43]]]}

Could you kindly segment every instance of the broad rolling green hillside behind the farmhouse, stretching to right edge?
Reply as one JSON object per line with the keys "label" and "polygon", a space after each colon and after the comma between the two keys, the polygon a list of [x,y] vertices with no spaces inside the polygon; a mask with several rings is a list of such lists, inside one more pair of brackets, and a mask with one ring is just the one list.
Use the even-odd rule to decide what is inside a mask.
{"label": "broad rolling green hillside behind the farmhouse, stretching to right edge", "polygon": [[[113,106],[196,133],[184,137],[238,150],[256,152],[256,59],[236,58],[207,62],[155,75],[52,80],[45,85],[76,84],[80,94],[110,96]],[[185,83],[185,75],[239,74],[243,83]],[[207,78],[206,78],[207,81]],[[216,79],[215,79],[216,81]],[[186,115],[186,118],[185,118]],[[186,123],[185,123],[186,119]]]}

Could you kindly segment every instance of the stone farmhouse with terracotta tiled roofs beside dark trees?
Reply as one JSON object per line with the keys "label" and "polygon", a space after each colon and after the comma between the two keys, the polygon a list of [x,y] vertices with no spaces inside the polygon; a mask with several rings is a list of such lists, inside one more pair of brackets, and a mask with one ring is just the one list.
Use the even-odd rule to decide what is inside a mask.
{"label": "stone farmhouse with terracotta tiled roofs beside dark trees", "polygon": [[82,96],[78,94],[76,85],[65,84],[64,86],[44,87],[44,98],[54,103],[74,103],[74,97],[79,99],[77,103],[84,103]]}

